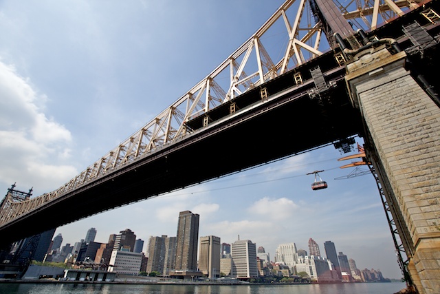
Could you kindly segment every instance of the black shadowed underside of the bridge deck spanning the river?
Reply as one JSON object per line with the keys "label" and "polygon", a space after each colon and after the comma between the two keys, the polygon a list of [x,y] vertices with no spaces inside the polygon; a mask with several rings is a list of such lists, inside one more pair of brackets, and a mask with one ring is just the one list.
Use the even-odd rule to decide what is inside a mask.
{"label": "black shadowed underside of the bridge deck spanning the river", "polygon": [[[307,80],[309,70],[318,63],[327,81],[333,80],[336,87],[312,99],[307,92],[314,88],[313,81],[297,86],[294,74],[301,72]],[[0,234],[9,238],[2,241],[19,240],[124,204],[362,134],[360,115],[351,106],[344,85],[344,67],[336,64],[332,52],[295,72],[264,84],[267,100],[261,102],[261,88],[255,88],[235,99],[239,110],[234,115],[229,113],[229,105],[213,109],[208,115],[217,121],[61,196],[41,211],[6,224]],[[199,126],[197,119],[188,123],[193,129]]]}

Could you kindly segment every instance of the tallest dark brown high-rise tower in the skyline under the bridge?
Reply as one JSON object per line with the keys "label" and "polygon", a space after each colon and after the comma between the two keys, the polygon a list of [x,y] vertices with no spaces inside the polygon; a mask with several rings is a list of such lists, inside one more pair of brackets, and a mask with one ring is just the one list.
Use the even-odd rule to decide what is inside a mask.
{"label": "tallest dark brown high-rise tower in the skyline under the bridge", "polygon": [[181,211],[177,223],[177,249],[175,270],[197,270],[197,242],[199,240],[199,215]]}

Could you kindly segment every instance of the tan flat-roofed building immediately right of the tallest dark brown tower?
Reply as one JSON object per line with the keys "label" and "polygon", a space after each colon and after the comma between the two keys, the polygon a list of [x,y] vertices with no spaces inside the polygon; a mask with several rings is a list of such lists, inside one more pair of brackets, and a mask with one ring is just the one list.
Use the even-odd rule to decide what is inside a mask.
{"label": "tan flat-roofed building immediately right of the tallest dark brown tower", "polygon": [[210,279],[220,276],[220,238],[200,237],[199,271]]}

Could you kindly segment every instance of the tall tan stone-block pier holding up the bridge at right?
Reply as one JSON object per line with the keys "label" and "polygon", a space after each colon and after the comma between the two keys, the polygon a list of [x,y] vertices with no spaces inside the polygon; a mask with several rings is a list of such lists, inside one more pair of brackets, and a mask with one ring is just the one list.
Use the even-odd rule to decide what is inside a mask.
{"label": "tall tan stone-block pier holding up the bridge at right", "polygon": [[419,293],[434,294],[440,293],[440,108],[404,68],[406,57],[385,47],[360,52],[347,64],[346,81],[397,205],[407,271]]}

